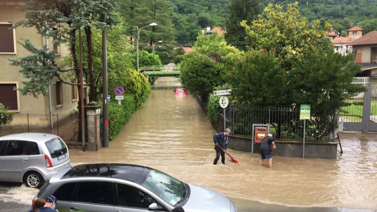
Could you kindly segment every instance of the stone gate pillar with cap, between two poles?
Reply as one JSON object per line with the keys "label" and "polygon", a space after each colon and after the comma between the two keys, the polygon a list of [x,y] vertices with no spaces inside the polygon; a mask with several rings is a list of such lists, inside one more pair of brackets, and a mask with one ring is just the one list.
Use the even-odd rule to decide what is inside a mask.
{"label": "stone gate pillar with cap, between two poles", "polygon": [[86,106],[87,139],[86,150],[98,151],[102,147],[100,137],[101,106],[98,102],[89,102]]}

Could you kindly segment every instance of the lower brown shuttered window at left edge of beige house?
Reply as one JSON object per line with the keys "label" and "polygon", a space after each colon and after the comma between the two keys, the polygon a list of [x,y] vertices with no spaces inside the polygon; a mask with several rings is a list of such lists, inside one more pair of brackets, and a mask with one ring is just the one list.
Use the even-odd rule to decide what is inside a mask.
{"label": "lower brown shuttered window at left edge of beige house", "polygon": [[17,84],[0,83],[0,103],[8,110],[19,110],[16,88]]}

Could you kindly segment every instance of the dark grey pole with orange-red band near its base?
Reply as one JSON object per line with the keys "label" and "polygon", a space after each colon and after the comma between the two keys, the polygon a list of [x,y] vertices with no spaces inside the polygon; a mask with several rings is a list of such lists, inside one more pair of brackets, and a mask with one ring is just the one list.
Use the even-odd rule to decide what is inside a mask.
{"label": "dark grey pole with orange-red band near its base", "polygon": [[[102,14],[103,22],[106,23],[106,14]],[[102,30],[102,102],[103,115],[103,145],[109,147],[109,102],[108,102],[108,58],[107,58],[107,32]]]}

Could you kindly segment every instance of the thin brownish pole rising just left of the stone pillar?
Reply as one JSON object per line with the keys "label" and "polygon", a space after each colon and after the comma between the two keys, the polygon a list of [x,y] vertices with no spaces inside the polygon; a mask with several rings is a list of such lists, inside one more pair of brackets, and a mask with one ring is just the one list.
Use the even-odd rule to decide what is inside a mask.
{"label": "thin brownish pole rising just left of the stone pillar", "polygon": [[81,110],[81,141],[82,151],[85,151],[85,112],[84,112],[84,74],[82,72],[82,37],[81,29],[78,29],[78,39],[80,45],[80,110]]}

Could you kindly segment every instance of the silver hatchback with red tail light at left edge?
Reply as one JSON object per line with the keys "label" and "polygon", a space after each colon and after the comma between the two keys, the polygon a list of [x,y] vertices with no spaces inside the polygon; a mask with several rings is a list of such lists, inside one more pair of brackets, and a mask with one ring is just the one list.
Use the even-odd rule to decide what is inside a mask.
{"label": "silver hatchback with red tail light at left edge", "polygon": [[19,133],[0,137],[0,181],[24,182],[40,188],[64,167],[68,148],[53,134]]}

